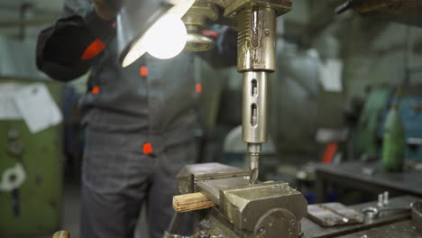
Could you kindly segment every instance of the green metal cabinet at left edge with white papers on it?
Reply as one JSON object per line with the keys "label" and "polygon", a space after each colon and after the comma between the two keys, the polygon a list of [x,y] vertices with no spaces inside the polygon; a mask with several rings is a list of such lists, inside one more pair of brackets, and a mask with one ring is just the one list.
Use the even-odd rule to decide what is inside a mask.
{"label": "green metal cabinet at left edge with white papers on it", "polygon": [[[59,83],[3,78],[0,89],[6,84],[23,87],[34,83],[45,85],[61,105]],[[0,104],[4,104],[1,110],[6,103],[0,98]],[[34,237],[60,227],[61,129],[61,125],[54,125],[31,133],[23,119],[0,119],[0,237]]]}

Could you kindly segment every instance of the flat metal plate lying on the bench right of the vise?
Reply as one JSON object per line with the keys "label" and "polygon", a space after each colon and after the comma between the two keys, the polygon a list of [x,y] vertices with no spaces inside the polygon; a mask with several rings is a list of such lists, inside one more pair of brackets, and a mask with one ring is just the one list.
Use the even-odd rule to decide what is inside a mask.
{"label": "flat metal plate lying on the bench right of the vise", "polygon": [[360,224],[365,219],[362,213],[340,203],[310,205],[307,206],[307,214],[310,219],[322,226]]}

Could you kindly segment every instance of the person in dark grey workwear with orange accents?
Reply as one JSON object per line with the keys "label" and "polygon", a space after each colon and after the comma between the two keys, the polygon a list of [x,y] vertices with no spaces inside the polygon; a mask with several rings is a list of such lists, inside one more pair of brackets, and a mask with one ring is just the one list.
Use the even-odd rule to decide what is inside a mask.
{"label": "person in dark grey workwear with orange accents", "polygon": [[38,38],[37,67],[67,82],[90,70],[81,99],[86,149],[80,237],[133,237],[142,204],[151,238],[170,224],[175,177],[196,159],[193,56],[117,63],[115,11],[103,0],[65,0]]}

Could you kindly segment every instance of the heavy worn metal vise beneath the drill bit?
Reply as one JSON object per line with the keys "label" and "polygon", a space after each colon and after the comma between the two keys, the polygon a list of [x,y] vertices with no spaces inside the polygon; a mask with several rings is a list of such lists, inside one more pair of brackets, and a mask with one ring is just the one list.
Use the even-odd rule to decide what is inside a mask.
{"label": "heavy worn metal vise beneath the drill bit", "polygon": [[300,220],[307,215],[307,200],[288,183],[251,185],[248,171],[197,164],[183,169],[178,180],[183,185],[179,192],[189,192],[187,186],[217,205],[197,212],[203,219],[193,237],[298,237]]}

